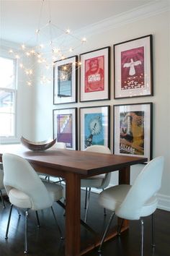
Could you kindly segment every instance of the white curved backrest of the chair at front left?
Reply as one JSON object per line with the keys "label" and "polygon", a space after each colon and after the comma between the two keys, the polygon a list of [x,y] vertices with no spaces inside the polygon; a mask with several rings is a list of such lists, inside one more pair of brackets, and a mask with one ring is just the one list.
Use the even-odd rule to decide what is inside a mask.
{"label": "white curved backrest of the chair at front left", "polygon": [[53,204],[53,198],[28,161],[11,153],[4,153],[2,160],[4,187],[8,195],[12,188],[24,192],[32,201],[32,210],[48,208]]}

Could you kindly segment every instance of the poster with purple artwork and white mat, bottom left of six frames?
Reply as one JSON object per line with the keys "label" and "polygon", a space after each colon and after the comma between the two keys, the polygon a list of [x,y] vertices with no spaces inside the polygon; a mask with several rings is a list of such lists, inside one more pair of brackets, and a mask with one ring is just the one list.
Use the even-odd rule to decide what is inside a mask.
{"label": "poster with purple artwork and white mat, bottom left of six frames", "polygon": [[77,150],[77,108],[53,110],[53,137],[65,142],[66,148]]}

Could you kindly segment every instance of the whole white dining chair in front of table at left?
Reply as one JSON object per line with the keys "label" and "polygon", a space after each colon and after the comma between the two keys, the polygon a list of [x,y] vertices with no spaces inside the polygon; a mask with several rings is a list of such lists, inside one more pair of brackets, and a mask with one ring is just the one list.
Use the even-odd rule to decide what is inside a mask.
{"label": "whole white dining chair in front of table at left", "polygon": [[[24,158],[11,153],[4,153],[2,156],[4,165],[4,187],[11,208],[9,210],[9,219],[6,226],[6,239],[9,233],[9,224],[12,215],[13,205],[16,208],[25,209],[25,232],[24,232],[24,253],[28,252],[28,213],[29,210],[43,210],[51,208],[55,223],[58,226],[55,213],[53,211],[53,202],[63,197],[63,187],[50,182],[42,182],[30,163]],[[61,238],[61,229],[58,226]]]}

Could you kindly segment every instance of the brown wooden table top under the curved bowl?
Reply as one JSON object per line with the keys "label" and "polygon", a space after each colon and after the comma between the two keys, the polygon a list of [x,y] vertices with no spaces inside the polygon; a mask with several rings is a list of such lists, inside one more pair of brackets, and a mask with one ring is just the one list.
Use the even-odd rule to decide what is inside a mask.
{"label": "brown wooden table top under the curved bowl", "polygon": [[144,163],[147,158],[129,155],[112,155],[92,153],[80,150],[63,150],[55,148],[43,152],[27,150],[22,145],[0,145],[0,161],[3,153],[14,153],[27,159],[30,163],[43,164],[61,171],[69,171],[81,175],[96,175],[102,171],[117,171],[122,167],[136,163]]}

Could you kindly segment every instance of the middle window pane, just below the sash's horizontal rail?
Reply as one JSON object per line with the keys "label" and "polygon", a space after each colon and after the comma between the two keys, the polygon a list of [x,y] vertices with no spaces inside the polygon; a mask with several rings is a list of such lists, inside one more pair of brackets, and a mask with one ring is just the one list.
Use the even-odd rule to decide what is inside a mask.
{"label": "middle window pane, just below the sash's horizontal rail", "polygon": [[14,112],[14,93],[0,90],[0,113]]}

